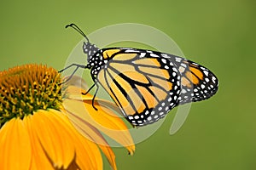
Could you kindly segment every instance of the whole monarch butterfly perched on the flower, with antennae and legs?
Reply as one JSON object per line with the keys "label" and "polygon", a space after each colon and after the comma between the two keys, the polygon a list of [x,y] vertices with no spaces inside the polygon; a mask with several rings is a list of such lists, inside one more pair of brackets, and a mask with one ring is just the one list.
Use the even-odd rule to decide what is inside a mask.
{"label": "whole monarch butterfly perched on the flower, with antennae and legs", "polygon": [[[210,98],[218,90],[218,78],[212,71],[189,59],[137,48],[97,48],[78,26],[67,25],[85,38],[87,65],[94,84],[112,97],[125,118],[134,126],[158,121],[177,105]],[[72,74],[72,76],[73,76]],[[71,76],[71,77],[72,77]],[[96,93],[92,99],[95,99]]]}

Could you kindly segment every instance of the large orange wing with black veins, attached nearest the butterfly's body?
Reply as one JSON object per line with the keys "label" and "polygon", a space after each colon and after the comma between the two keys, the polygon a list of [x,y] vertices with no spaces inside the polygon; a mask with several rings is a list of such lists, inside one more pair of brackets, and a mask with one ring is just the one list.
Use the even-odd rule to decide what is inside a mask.
{"label": "large orange wing with black veins, attached nearest the butterfly's body", "polygon": [[[103,54],[113,49],[103,49]],[[169,60],[146,51],[120,49],[97,75],[125,117],[133,125],[146,125],[165,116],[180,91],[179,72]]]}

